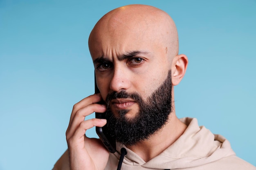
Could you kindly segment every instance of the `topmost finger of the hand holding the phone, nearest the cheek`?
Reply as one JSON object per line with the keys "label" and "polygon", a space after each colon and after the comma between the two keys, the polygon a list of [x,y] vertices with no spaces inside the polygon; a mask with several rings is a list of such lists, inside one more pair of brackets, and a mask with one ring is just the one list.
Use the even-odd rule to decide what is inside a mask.
{"label": "topmost finger of the hand holding the phone, nearest the cheek", "polygon": [[94,95],[90,95],[88,97],[85,97],[84,99],[82,99],[80,102],[74,104],[73,106],[73,110],[72,110],[72,113],[71,113],[71,116],[70,116],[70,120],[72,120],[74,118],[74,115],[75,113],[80,110],[81,108],[85,107],[85,106],[88,106],[90,104],[94,104],[94,103],[97,103],[99,101],[101,101],[102,98],[101,98],[101,94],[98,93],[98,94],[94,94]]}

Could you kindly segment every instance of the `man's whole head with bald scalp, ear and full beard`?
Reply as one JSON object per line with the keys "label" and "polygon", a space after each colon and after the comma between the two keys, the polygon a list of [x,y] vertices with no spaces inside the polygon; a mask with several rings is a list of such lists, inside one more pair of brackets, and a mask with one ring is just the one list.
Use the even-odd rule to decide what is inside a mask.
{"label": "man's whole head with bald scalp, ear and full beard", "polygon": [[173,86],[186,70],[172,18],[148,5],[114,9],[92,29],[89,49],[109,133],[127,145],[150,139],[175,112]]}

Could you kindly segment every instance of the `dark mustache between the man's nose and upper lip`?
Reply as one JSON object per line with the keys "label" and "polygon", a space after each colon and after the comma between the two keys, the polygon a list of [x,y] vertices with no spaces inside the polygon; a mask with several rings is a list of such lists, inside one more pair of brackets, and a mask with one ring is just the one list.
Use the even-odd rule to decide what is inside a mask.
{"label": "dark mustache between the man's nose and upper lip", "polygon": [[106,104],[109,106],[110,101],[113,99],[133,99],[135,102],[141,102],[142,98],[138,93],[128,93],[126,91],[120,91],[120,92],[112,92],[109,93],[106,97]]}

